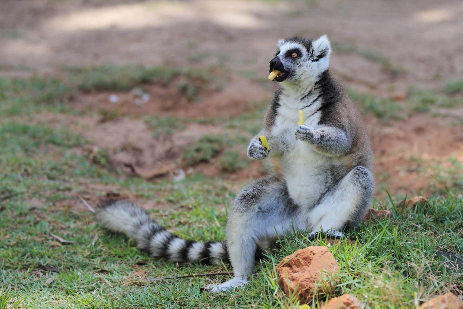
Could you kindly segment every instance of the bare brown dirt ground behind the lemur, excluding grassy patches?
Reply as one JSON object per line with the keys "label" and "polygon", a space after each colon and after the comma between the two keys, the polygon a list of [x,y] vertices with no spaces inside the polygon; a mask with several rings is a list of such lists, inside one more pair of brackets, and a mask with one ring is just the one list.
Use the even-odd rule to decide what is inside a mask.
{"label": "bare brown dirt ground behind the lemur, excluding grassy patches", "polygon": [[[271,96],[273,86],[259,81],[267,77],[279,38],[325,33],[333,45],[355,46],[356,51],[334,49],[331,69],[358,92],[405,97],[410,86],[436,89],[463,79],[460,0],[3,0],[0,76],[56,75],[63,66],[108,63],[197,68],[219,63],[230,72],[229,82],[194,105],[165,108],[169,93],[153,85],[147,87],[150,100],[143,107],[132,104],[128,94],[117,93],[121,112],[183,118],[239,115]],[[368,50],[370,57],[359,50]],[[381,59],[388,59],[400,74],[385,70]],[[107,107],[111,94],[79,94],[72,104]],[[368,119],[379,189],[414,194],[433,181],[432,166],[449,158],[463,163],[463,127],[452,124],[463,113],[439,113],[446,116],[415,114],[407,121],[388,123]],[[52,123],[54,117],[64,116],[40,117]],[[184,139],[220,130],[192,123],[184,131],[188,134],[159,143],[137,118],[101,121],[76,116],[67,121],[95,146],[110,148],[121,166],[139,175],[175,169],[178,166],[171,164]],[[213,164],[195,169],[224,176]],[[260,164],[251,164],[224,177],[244,181],[260,175]]]}

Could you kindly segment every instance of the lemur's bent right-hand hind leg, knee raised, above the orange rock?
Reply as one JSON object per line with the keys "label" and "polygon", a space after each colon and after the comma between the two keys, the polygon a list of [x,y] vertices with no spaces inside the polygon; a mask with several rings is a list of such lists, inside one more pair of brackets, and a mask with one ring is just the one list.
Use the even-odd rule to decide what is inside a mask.
{"label": "lemur's bent right-hand hind leg, knee raised, above the orange rock", "polygon": [[357,166],[328,192],[309,214],[313,226],[309,237],[326,232],[332,238],[344,237],[339,230],[358,227],[369,207],[375,181],[369,170]]}

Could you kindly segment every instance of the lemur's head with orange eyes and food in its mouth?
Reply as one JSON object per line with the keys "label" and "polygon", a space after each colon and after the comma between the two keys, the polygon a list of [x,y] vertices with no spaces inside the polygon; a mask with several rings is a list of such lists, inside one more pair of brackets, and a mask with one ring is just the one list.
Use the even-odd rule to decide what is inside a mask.
{"label": "lemur's head with orange eyes and food in its mouth", "polygon": [[318,40],[292,37],[278,41],[278,51],[270,61],[270,72],[280,71],[275,82],[294,84],[314,81],[328,69],[331,46],[326,35]]}

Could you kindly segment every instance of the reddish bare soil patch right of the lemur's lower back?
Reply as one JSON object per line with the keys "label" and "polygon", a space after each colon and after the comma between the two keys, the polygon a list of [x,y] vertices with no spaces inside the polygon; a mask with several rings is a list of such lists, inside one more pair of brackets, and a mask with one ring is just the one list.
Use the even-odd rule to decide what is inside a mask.
{"label": "reddish bare soil patch right of the lemur's lower back", "polygon": [[387,125],[371,120],[375,173],[381,187],[392,193],[426,191],[431,183],[438,185],[431,175],[438,176],[449,158],[463,163],[463,126],[452,122],[426,113]]}

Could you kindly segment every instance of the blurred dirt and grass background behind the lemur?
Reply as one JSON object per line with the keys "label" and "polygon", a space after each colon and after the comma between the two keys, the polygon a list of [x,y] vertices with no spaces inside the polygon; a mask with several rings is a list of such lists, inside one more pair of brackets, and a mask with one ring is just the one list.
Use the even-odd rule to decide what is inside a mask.
{"label": "blurred dirt and grass background behind the lemur", "polygon": [[377,196],[461,192],[461,0],[2,0],[2,155],[37,160],[4,164],[4,192],[31,175],[68,182],[64,199],[125,190],[104,175],[239,188],[269,170],[245,153],[277,40],[323,34],[367,119]]}

